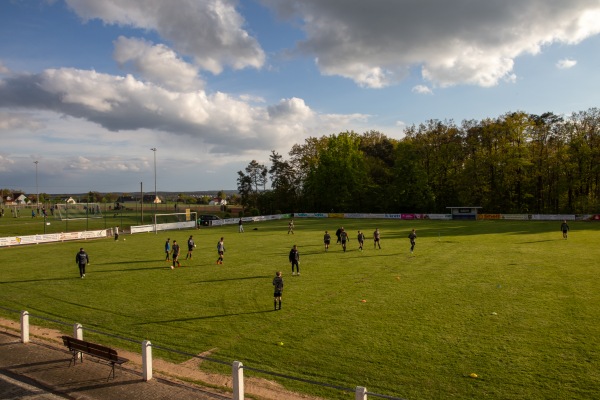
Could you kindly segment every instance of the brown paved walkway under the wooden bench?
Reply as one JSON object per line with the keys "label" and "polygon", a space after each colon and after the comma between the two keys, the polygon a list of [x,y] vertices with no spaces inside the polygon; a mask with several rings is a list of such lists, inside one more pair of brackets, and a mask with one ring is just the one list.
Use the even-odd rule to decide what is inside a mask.
{"label": "brown paved walkway under the wooden bench", "polygon": [[71,355],[42,340],[21,343],[20,337],[0,332],[0,399],[106,400],[106,399],[231,399],[231,394],[213,393],[199,386],[152,379],[144,382],[141,373],[116,367],[115,378],[107,380],[110,366],[85,358],[69,366]]}

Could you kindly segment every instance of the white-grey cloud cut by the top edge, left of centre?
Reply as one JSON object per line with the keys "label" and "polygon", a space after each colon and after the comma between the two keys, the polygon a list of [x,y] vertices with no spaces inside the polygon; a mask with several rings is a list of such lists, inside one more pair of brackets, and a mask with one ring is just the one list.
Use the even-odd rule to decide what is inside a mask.
{"label": "white-grey cloud cut by the top edge, left of centre", "polygon": [[156,31],[173,48],[213,73],[224,66],[259,68],[260,45],[243,29],[233,0],[66,0],[84,20]]}

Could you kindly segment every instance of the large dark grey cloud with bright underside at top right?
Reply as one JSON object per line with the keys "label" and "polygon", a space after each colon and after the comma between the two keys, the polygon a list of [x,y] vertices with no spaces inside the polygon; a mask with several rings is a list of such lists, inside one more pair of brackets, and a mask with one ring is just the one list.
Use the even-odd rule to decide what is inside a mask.
{"label": "large dark grey cloud with bright underside at top right", "polygon": [[[303,22],[297,50],[323,74],[380,88],[413,67],[435,86],[514,80],[515,60],[600,33],[597,0],[262,0]],[[551,21],[551,23],[549,23]]]}

